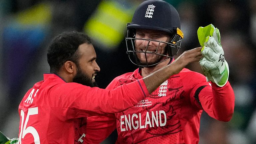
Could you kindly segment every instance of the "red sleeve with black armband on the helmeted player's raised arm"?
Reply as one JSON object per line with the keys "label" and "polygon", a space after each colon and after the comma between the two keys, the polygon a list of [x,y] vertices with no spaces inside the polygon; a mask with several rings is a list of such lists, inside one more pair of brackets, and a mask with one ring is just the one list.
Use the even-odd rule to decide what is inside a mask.
{"label": "red sleeve with black armband on the helmeted player's raised arm", "polygon": [[182,75],[185,93],[191,104],[203,109],[209,116],[220,121],[229,121],[234,112],[235,95],[229,82],[218,87],[215,83],[206,82],[205,76],[188,71]]}

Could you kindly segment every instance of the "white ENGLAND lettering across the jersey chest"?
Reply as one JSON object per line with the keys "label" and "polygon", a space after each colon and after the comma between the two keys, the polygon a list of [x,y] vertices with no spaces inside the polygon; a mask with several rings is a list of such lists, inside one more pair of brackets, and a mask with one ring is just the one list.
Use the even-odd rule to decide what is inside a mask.
{"label": "white ENGLAND lettering across the jersey chest", "polygon": [[[164,118],[164,119],[163,119]],[[120,116],[121,131],[142,129],[147,127],[159,127],[166,125],[166,113],[163,110],[146,112],[146,117],[141,113]]]}

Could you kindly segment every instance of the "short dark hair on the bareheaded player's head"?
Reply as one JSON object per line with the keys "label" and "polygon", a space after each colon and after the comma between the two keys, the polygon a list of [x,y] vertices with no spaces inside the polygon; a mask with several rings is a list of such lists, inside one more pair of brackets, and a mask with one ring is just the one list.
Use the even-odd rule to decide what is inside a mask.
{"label": "short dark hair on the bareheaded player's head", "polygon": [[57,73],[66,61],[72,61],[78,65],[80,55],[77,49],[79,45],[84,43],[91,44],[92,40],[81,32],[63,32],[56,36],[52,40],[47,52],[50,72]]}

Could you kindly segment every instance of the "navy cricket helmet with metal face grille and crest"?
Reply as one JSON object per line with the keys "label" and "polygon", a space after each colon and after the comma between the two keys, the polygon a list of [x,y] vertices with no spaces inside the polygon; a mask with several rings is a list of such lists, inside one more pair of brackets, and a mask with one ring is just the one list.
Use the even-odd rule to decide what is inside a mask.
{"label": "navy cricket helmet with metal face grille and crest", "polygon": [[[154,67],[155,65],[172,58],[178,53],[181,45],[181,39],[183,38],[183,33],[180,30],[180,18],[177,10],[171,4],[163,0],[147,0],[142,2],[135,10],[132,22],[127,24],[127,29],[126,53],[129,55],[131,62],[139,67]],[[167,32],[171,40],[165,42],[153,39],[136,38],[136,29],[150,29]],[[145,51],[136,50],[136,40],[148,41]],[[158,42],[156,51],[147,52],[149,43],[152,41],[154,41],[154,43]],[[157,53],[159,46],[162,44],[166,44],[164,50],[165,53]],[[138,58],[138,55],[141,55],[141,53],[145,55],[143,63]],[[155,63],[149,63],[147,54],[158,55],[161,59],[157,59]]]}

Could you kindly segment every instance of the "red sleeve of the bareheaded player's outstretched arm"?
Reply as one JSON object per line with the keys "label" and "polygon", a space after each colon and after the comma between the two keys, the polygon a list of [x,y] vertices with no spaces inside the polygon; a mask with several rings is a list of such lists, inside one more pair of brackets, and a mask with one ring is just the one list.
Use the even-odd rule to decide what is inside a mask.
{"label": "red sleeve of the bareheaded player's outstretched arm", "polygon": [[[134,106],[149,95],[142,79],[113,90],[88,87],[77,83],[54,86],[50,95],[56,95],[52,110],[60,118],[79,118],[119,112]],[[63,119],[65,120],[65,119]]]}

